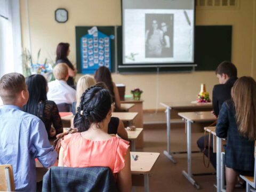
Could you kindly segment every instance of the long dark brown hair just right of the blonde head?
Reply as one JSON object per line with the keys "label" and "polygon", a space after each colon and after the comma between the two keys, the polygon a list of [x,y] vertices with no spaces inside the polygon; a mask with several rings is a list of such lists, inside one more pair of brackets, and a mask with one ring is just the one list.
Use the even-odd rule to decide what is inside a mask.
{"label": "long dark brown hair just right of the blonde head", "polygon": [[112,77],[111,77],[111,73],[109,71],[109,69],[105,66],[101,66],[99,67],[96,71],[95,71],[95,75],[94,78],[96,80],[96,82],[103,82],[107,85],[108,90],[111,94],[111,97],[115,98],[115,94],[114,94],[114,87],[113,87],[113,81],[112,81]]}

